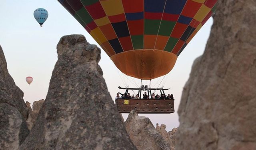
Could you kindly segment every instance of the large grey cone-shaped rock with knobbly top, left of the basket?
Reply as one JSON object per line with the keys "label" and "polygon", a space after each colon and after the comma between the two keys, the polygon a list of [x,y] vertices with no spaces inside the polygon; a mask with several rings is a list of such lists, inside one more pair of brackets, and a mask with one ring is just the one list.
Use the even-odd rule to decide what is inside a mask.
{"label": "large grey cone-shaped rock with knobbly top, left of the basket", "polygon": [[21,150],[134,150],[98,65],[100,49],[63,36],[46,100]]}

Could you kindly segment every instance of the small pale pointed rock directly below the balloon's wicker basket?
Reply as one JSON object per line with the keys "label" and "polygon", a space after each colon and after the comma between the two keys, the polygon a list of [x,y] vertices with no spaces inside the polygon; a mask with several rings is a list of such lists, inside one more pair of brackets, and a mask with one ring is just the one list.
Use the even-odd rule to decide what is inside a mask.
{"label": "small pale pointed rock directly below the balloon's wicker basket", "polygon": [[168,142],[156,131],[149,118],[138,116],[133,110],[124,124],[138,150],[172,150]]}

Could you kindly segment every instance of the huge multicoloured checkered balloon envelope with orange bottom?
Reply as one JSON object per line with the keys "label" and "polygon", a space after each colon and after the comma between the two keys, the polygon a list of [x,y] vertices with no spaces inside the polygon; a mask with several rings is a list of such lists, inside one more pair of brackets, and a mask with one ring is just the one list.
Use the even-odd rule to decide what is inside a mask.
{"label": "huge multicoloured checkered balloon envelope with orange bottom", "polygon": [[58,0],[128,76],[149,80],[177,57],[217,0]]}

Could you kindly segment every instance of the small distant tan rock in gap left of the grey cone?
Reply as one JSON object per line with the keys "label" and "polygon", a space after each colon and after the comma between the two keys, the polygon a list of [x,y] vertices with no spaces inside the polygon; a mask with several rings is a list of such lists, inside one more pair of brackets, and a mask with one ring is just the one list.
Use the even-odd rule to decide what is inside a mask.
{"label": "small distant tan rock in gap left of the grey cone", "polygon": [[39,110],[42,107],[43,103],[44,103],[44,99],[35,101],[33,103],[33,111],[32,111],[32,109],[30,107],[30,103],[26,102],[28,110],[29,110],[29,112],[28,112],[28,119],[27,119],[27,124],[28,124],[28,129],[29,130],[31,130],[34,122],[36,121],[36,118],[38,116]]}

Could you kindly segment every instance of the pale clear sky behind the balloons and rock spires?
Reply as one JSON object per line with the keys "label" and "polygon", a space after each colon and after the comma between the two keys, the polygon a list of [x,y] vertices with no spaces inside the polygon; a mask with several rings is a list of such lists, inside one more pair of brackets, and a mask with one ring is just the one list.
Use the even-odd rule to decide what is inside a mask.
{"label": "pale clear sky behind the balloons and rock spires", "polygon": [[[45,8],[49,13],[43,27],[34,19],[33,12],[36,8]],[[161,87],[165,83],[165,88],[171,88],[167,93],[174,94],[176,112],[192,63],[204,52],[212,22],[210,18],[204,24],[182,51],[176,65],[160,85],[159,78],[151,82],[151,85],[156,85],[155,87]],[[4,50],[9,73],[24,92],[24,100],[31,105],[34,101],[46,98],[52,70],[57,61],[56,45],[62,36],[69,34],[82,34],[90,44],[100,47],[57,0],[0,0],[0,45]],[[140,80],[122,74],[103,50],[99,64],[113,99],[117,92],[124,92],[118,90],[118,86],[135,87],[133,80],[140,85]],[[25,81],[26,76],[34,78],[30,86]],[[160,80],[162,78],[160,77]],[[143,81],[143,84],[149,85],[149,81]],[[130,93],[132,94],[132,91]],[[166,130],[170,131],[179,126],[176,112],[139,116],[149,117],[154,126],[156,123],[166,124]],[[123,116],[126,119],[128,114]]]}

